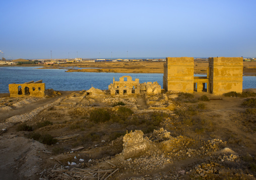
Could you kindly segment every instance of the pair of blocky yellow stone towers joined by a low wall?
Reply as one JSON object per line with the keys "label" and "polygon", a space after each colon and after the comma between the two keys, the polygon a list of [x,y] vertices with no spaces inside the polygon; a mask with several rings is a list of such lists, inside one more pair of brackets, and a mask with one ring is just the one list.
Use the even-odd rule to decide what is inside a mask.
{"label": "pair of blocky yellow stone towers joined by a low wall", "polygon": [[163,88],[192,93],[242,92],[243,58],[209,58],[207,77],[194,77],[194,58],[166,58]]}

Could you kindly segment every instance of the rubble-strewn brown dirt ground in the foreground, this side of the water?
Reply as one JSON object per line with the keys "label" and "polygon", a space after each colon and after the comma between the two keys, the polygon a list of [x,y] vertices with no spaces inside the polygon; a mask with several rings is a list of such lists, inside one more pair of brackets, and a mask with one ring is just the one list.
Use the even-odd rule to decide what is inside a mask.
{"label": "rubble-strewn brown dirt ground in the foreground, this side of the water", "polygon": [[[104,179],[111,172],[108,179],[255,179],[255,104],[241,105],[253,97],[61,93],[1,95],[1,179],[68,179],[75,171],[74,179],[85,173]],[[210,100],[199,100],[203,95]],[[124,158],[123,136],[135,130],[150,145]],[[36,140],[38,134],[57,142],[47,145],[50,138]]]}

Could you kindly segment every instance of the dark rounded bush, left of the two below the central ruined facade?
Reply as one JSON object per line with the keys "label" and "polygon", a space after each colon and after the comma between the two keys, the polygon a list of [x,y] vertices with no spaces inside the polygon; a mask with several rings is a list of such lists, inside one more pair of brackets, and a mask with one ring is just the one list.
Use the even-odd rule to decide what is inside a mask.
{"label": "dark rounded bush, left of the two below the central ruined facade", "polygon": [[110,114],[105,109],[95,109],[91,111],[89,120],[95,123],[107,122],[110,120]]}

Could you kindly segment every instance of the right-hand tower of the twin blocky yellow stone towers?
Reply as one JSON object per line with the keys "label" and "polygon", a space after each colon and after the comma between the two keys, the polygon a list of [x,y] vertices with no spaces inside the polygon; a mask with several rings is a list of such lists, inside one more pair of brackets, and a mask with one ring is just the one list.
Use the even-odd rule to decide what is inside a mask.
{"label": "right-hand tower of the twin blocky yellow stone towers", "polygon": [[208,89],[212,94],[242,92],[243,58],[209,58]]}

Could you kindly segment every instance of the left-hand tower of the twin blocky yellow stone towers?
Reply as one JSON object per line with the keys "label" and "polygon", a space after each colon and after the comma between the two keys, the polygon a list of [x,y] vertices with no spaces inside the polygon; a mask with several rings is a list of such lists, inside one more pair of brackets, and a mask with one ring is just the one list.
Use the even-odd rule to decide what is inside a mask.
{"label": "left-hand tower of the twin blocky yellow stone towers", "polygon": [[194,58],[166,58],[163,86],[167,91],[194,92]]}

